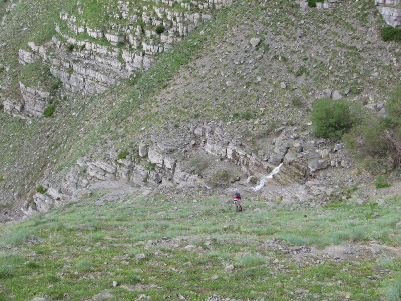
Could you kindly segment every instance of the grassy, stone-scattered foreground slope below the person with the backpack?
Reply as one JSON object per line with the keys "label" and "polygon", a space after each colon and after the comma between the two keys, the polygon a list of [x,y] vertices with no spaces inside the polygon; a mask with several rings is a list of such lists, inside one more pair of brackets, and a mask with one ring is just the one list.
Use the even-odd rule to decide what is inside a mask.
{"label": "grassy, stone-scattered foreground slope below the person with the backpack", "polygon": [[[7,227],[0,239],[2,299],[68,295],[84,300],[113,289],[115,299],[147,294],[151,299],[175,300],[181,294],[187,300],[202,300],[217,294],[254,300],[265,293],[269,300],[291,300],[297,294],[307,299],[318,294],[333,300],[372,300],[389,293],[384,287],[391,287],[392,277],[401,272],[394,254],[374,255],[363,247],[349,260],[312,255],[298,262],[291,259],[292,252],[263,244],[279,239],[284,249],[305,244],[323,249],[333,243],[373,240],[399,246],[401,237],[394,229],[399,197],[388,199],[388,206],[367,202],[357,210],[352,202],[334,200],[322,207],[292,210],[279,204],[267,208],[261,200],[248,199],[238,214],[218,197],[193,203],[165,195],[126,195],[95,205],[107,193],[97,191]],[[262,210],[255,213],[254,208]],[[137,254],[147,258],[136,260]],[[231,264],[235,269],[224,271]],[[375,277],[377,266],[391,275]],[[214,275],[218,280],[211,278]]]}

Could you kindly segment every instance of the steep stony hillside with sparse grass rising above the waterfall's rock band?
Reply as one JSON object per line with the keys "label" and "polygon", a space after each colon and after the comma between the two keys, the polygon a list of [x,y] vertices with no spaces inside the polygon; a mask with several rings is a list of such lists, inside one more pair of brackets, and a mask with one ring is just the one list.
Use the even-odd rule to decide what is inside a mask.
{"label": "steep stony hillside with sparse grass rising above the waterfall's rock band", "polygon": [[[22,202],[32,202],[30,196],[35,188],[48,186],[48,181],[55,183],[56,190],[66,193],[63,187],[59,187],[60,182],[72,164],[84,155],[92,161],[99,158],[114,161],[119,150],[127,149],[134,160],[141,141],[146,142],[145,146],[165,138],[190,143],[192,138],[188,130],[191,126],[208,123],[213,131],[221,132],[215,138],[222,141],[234,138],[239,141],[238,145],[247,147],[246,157],[252,154],[258,157],[255,160],[260,163],[254,167],[261,166],[259,171],[258,168],[249,168],[249,163],[246,163],[243,170],[246,176],[252,176],[255,171],[267,174],[283,160],[286,152],[279,149],[280,145],[274,145],[278,137],[281,137],[280,141],[284,140],[283,149],[287,149],[284,144],[288,144],[287,136],[291,132],[302,139],[307,138],[307,143],[300,143],[305,144],[301,146],[306,152],[309,152],[308,143],[311,150],[314,149],[312,152],[324,148],[320,142],[316,144],[313,139],[308,139],[308,112],[314,99],[321,96],[348,97],[374,106],[385,102],[388,91],[397,82],[399,52],[395,44],[380,40],[379,30],[384,22],[370,1],[340,2],[325,9],[303,9],[296,2],[222,3],[224,6],[219,9],[195,10],[195,14],[211,13],[208,19],[212,20],[205,25],[198,24],[190,35],[182,30],[186,37],[178,42],[179,46],[156,55],[157,63],[146,67],[149,68],[146,72],[133,72],[129,79],[118,79],[118,86],[91,96],[102,89],[91,90],[90,86],[85,86],[85,83],[90,85],[93,82],[88,78],[83,82],[81,92],[74,88],[79,84],[71,85],[73,77],[76,83],[80,82],[79,74],[82,73],[79,72],[84,69],[78,65],[83,63],[117,71],[118,64],[113,62],[119,62],[124,56],[117,54],[113,61],[107,53],[115,56],[114,52],[127,49],[136,55],[139,49],[126,38],[131,28],[142,26],[141,35],[144,36],[141,39],[148,41],[148,36],[158,35],[152,32],[152,26],[155,28],[160,25],[158,22],[164,22],[159,19],[165,18],[161,24],[166,30],[170,27],[172,35],[177,36],[180,34],[174,29],[177,23],[167,22],[167,17],[173,16],[169,15],[170,11],[160,13],[164,6],[160,3],[151,3],[154,10],[149,14],[146,11],[150,10],[148,6],[142,6],[141,10],[134,9],[134,6],[127,11],[123,3],[114,7],[104,2],[92,7],[89,2],[68,5],[61,2],[52,5],[6,2],[4,5],[11,10],[5,15],[2,26],[2,36],[6,37],[7,43],[0,49],[4,62],[2,97],[6,110],[10,103],[21,108],[21,112],[10,111],[21,117],[2,115],[4,180],[1,185],[4,203],[16,202],[14,210],[18,210]],[[167,6],[169,10],[186,16],[188,8],[184,4],[170,5]],[[113,13],[110,8],[116,11]],[[24,15],[27,11],[36,17],[27,20]],[[78,15],[80,17],[76,18]],[[151,16],[153,19],[148,18]],[[117,20],[121,22],[116,23]],[[181,21],[183,24],[189,22]],[[53,23],[54,27],[48,26]],[[94,30],[96,26],[100,26],[99,31]],[[106,38],[110,31],[124,34]],[[88,36],[88,32],[97,32],[97,36]],[[125,40],[113,42],[118,36],[125,37]],[[147,45],[147,42],[142,42]],[[99,47],[103,44],[108,49],[106,56],[99,54]],[[41,45],[45,47],[41,48]],[[150,55],[146,47],[140,53]],[[94,63],[96,61],[99,65]],[[128,65],[126,62],[125,67]],[[108,75],[115,78],[110,72]],[[66,78],[66,74],[70,77]],[[27,91],[26,87],[30,86],[34,91]],[[33,95],[39,95],[39,99]],[[30,104],[36,100],[31,106],[27,103],[18,105],[26,99]],[[40,110],[49,103],[56,109],[51,118],[25,119],[27,114],[35,115],[34,112],[41,115]],[[32,108],[39,108],[39,111]],[[180,147],[174,149],[177,148]],[[212,148],[210,153],[219,155],[219,150]],[[277,153],[280,153],[278,157]],[[263,164],[264,159],[272,154],[277,158]],[[344,159],[352,162],[344,155],[334,158],[334,166]],[[173,157],[176,162],[176,156]],[[308,160],[315,159],[309,157],[298,158],[300,162],[296,165],[304,174],[302,177],[306,176]],[[157,160],[149,162],[156,169]],[[142,170],[140,183],[145,179],[161,180],[158,173],[146,171],[151,167],[146,167],[149,164],[138,167]],[[344,166],[348,164],[351,163],[344,163]],[[86,167],[88,163],[84,165]],[[163,162],[160,166],[164,167]],[[85,167],[81,166],[80,170],[85,170]],[[218,171],[208,168],[204,173],[209,172],[209,177],[213,178]],[[121,177],[117,175],[117,178]],[[121,179],[130,180],[127,176]],[[140,184],[138,181],[133,182]],[[84,182],[89,183],[90,179]]]}

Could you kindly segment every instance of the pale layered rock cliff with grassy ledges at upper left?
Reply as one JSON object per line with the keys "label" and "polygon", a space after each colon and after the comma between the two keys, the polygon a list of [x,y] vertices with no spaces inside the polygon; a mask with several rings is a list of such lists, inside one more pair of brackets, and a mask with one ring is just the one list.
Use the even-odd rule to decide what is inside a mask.
{"label": "pale layered rock cliff with grassy ledges at upper left", "polygon": [[[197,25],[209,20],[214,10],[230,4],[231,0],[207,0],[133,6],[128,1],[118,1],[116,7],[105,8],[110,20],[102,28],[91,26],[79,7],[78,16],[60,12],[63,27],[55,26],[62,39],[53,37],[46,45],[29,42],[28,49],[19,50],[18,59],[22,65],[40,60],[71,92],[101,94],[122,79],[146,71],[158,53],[170,49]],[[113,19],[124,22],[112,22]],[[67,30],[63,32],[61,28]],[[77,38],[79,35],[85,38]],[[20,99],[3,99],[4,110],[41,116],[48,100],[45,94],[49,92],[24,87]]]}

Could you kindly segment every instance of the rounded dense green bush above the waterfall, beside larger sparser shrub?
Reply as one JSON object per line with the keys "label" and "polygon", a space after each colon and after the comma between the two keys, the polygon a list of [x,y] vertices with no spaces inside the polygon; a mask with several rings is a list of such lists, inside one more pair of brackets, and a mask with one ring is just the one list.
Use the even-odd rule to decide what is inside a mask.
{"label": "rounded dense green bush above the waterfall, beside larger sparser shrub", "polygon": [[349,101],[322,98],[313,104],[311,120],[316,137],[337,139],[352,128],[356,116]]}

